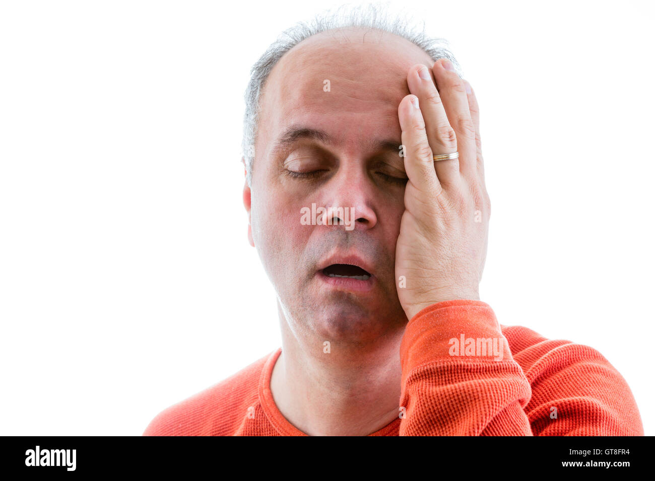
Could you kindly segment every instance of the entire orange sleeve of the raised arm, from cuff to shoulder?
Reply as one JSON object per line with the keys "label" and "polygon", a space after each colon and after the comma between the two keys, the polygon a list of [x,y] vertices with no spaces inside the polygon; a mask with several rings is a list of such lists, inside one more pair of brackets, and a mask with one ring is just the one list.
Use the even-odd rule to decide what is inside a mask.
{"label": "entire orange sleeve of the raised arm, from cuff to shoulder", "polygon": [[400,347],[400,435],[643,434],[627,383],[600,353],[526,336],[513,354],[481,301],[417,313]]}

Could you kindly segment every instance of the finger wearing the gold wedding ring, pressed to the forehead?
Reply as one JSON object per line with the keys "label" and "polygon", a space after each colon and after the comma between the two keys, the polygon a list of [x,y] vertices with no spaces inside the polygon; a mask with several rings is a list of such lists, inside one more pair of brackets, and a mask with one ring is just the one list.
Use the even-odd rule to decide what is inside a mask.
{"label": "finger wearing the gold wedding ring, pressed to the forehead", "polygon": [[[441,96],[432,81],[430,70],[422,64],[414,65],[407,74],[409,92],[419,98],[421,113],[425,120],[428,142],[434,155],[457,152],[455,130],[448,122],[448,116],[441,102]],[[459,160],[457,158],[438,160],[434,168],[441,186],[448,188],[460,180]]]}

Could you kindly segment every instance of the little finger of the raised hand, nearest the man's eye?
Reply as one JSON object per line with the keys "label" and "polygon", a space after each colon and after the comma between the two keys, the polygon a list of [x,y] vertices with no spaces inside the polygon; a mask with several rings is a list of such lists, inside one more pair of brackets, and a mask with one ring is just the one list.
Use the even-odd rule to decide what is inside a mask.
{"label": "little finger of the raised hand, nearest the man's eye", "polygon": [[438,196],[441,193],[441,185],[434,170],[432,149],[428,143],[417,96],[410,94],[400,101],[398,119],[402,130],[403,161],[409,182],[426,195]]}

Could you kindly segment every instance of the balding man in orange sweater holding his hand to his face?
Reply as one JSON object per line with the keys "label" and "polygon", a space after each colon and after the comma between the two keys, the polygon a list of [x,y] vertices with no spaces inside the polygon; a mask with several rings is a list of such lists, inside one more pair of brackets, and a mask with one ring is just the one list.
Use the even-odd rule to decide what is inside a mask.
{"label": "balding man in orange sweater holding his hand to his face", "polygon": [[297,27],[253,67],[243,200],[282,348],[144,435],[643,435],[599,352],[479,299],[476,96],[450,52],[376,22]]}

